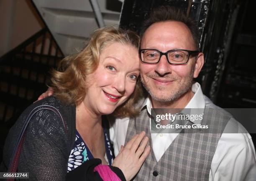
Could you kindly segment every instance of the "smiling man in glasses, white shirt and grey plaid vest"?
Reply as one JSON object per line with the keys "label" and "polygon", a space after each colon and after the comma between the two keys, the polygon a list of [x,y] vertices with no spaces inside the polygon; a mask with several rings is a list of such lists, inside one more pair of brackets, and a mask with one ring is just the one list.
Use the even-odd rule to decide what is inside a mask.
{"label": "smiling man in glasses, white shirt and grey plaid vest", "polygon": [[[241,125],[239,134],[227,134],[237,122],[193,83],[204,64],[195,23],[181,10],[160,7],[145,21],[141,38],[141,82],[148,97],[139,101],[138,117],[118,119],[110,128],[115,154],[142,130],[150,138],[151,153],[134,180],[255,181],[251,136]],[[151,108],[204,108],[202,122],[210,120],[218,133],[151,133]]]}

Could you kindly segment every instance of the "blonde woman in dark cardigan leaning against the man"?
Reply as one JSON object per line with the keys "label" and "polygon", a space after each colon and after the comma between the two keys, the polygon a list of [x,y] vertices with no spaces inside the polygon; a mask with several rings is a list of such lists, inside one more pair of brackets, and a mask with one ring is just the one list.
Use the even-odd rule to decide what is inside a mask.
{"label": "blonde woman in dark cardigan leaning against the man", "polygon": [[[95,31],[84,50],[62,60],[61,71],[52,72],[54,97],[28,107],[11,128],[4,148],[5,168],[28,114],[38,105],[51,105],[64,118],[67,133],[54,112],[37,112],[26,130],[18,171],[29,172],[30,180],[40,181],[99,179],[99,176],[103,179],[102,167],[97,166],[100,162],[93,158],[111,165],[113,154],[108,123],[102,115],[113,113],[121,105],[116,115],[132,116],[136,112],[131,105],[136,99],[134,89],[139,85],[138,46],[135,33],[102,28]],[[112,164],[121,171],[110,167],[111,176],[117,174],[127,181],[135,176],[149,153],[148,138],[143,138],[144,135],[136,135],[122,149]]]}

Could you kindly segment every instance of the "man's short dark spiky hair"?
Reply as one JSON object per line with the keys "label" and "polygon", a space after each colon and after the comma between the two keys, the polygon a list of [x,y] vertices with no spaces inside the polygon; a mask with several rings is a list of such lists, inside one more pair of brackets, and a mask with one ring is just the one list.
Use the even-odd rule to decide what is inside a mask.
{"label": "man's short dark spiky hair", "polygon": [[199,29],[197,27],[197,22],[188,17],[183,10],[173,6],[159,6],[158,8],[153,9],[149,17],[143,22],[140,37],[143,37],[149,26],[164,21],[179,21],[187,25],[195,41],[195,46],[199,50]]}

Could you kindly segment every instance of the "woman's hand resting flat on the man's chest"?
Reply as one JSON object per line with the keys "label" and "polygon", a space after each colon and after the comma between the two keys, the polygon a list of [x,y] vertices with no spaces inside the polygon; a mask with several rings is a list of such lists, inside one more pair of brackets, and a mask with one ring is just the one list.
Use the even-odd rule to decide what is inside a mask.
{"label": "woman's hand resting flat on the man's chest", "polygon": [[121,146],[118,156],[113,161],[112,166],[120,168],[126,181],[130,181],[138,173],[148,156],[150,147],[146,147],[148,137],[144,137],[145,134],[143,131],[135,135],[125,147]]}

